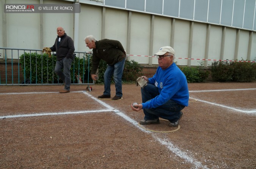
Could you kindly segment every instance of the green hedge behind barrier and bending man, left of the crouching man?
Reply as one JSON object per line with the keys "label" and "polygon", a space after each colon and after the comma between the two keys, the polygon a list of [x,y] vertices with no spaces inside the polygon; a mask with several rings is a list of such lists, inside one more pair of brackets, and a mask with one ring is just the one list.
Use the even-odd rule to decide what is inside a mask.
{"label": "green hedge behind barrier and bending man, left of the crouching man", "polygon": [[[20,55],[19,64],[22,67],[22,73],[25,78],[29,78],[32,84],[55,84],[63,83],[54,72],[56,56],[48,57],[47,54],[25,53]],[[80,75],[83,83],[93,83],[88,65],[91,67],[92,55],[90,58],[87,54],[82,58],[75,57],[71,65],[71,83],[78,83],[75,75]],[[103,60],[99,64],[99,79],[95,83],[104,83],[104,72],[107,63]],[[126,60],[122,79],[124,81],[136,80],[136,75],[140,76],[142,71],[140,66],[134,60]],[[85,70],[85,71],[84,71]],[[89,75],[89,79],[88,79]],[[112,80],[113,82],[113,80]]]}

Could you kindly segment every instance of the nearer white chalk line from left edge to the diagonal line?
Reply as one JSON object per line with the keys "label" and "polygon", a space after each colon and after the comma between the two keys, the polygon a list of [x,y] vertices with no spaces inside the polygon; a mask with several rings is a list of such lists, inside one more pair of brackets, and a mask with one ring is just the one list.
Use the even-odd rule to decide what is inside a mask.
{"label": "nearer white chalk line from left edge to the diagonal line", "polygon": [[38,114],[18,114],[18,115],[6,115],[0,116],[1,118],[16,118],[16,117],[33,117],[33,116],[43,116],[43,115],[64,115],[64,114],[83,114],[83,113],[95,113],[95,112],[110,112],[112,109],[105,110],[93,110],[93,111],[77,111],[77,112],[52,112],[52,113],[38,113]]}

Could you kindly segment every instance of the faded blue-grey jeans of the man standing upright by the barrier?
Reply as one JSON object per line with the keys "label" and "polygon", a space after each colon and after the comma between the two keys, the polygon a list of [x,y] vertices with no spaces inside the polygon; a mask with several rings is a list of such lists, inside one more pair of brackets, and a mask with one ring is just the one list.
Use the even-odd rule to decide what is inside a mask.
{"label": "faded blue-grey jeans of the man standing upright by the barrier", "polygon": [[[72,64],[71,58],[63,58],[61,60],[56,61],[54,72],[61,78],[61,80],[65,83],[64,90],[70,90],[71,84],[71,75],[70,75],[70,68]],[[63,68],[63,72],[61,69]]]}

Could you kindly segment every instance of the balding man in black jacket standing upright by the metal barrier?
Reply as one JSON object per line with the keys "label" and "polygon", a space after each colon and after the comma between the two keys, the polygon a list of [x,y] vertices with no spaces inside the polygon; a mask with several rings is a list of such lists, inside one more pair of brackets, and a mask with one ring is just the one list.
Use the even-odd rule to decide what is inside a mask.
{"label": "balding man in black jacket standing upright by the metal barrier", "polygon": [[[70,91],[71,75],[70,68],[74,60],[74,41],[69,37],[62,27],[57,28],[57,38],[51,48],[44,48],[44,51],[56,51],[57,62],[54,72],[64,82],[64,89],[60,93],[68,93]],[[61,71],[63,69],[63,72]]]}

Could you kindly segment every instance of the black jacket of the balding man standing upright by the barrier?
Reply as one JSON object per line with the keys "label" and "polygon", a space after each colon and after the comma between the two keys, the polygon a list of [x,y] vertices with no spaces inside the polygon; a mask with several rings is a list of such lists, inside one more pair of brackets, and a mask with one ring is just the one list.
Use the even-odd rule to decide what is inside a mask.
{"label": "black jacket of the balding man standing upright by the barrier", "polygon": [[53,52],[56,51],[57,60],[61,60],[65,57],[74,59],[74,56],[73,56],[73,53],[75,51],[74,41],[66,33],[60,38],[61,40],[59,44],[58,44],[59,36],[57,36],[54,45],[50,48]]}

